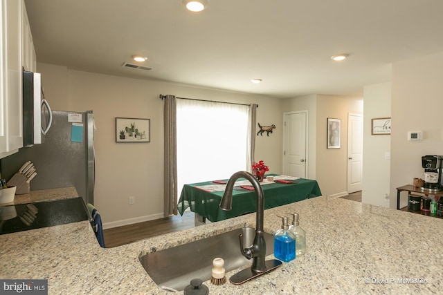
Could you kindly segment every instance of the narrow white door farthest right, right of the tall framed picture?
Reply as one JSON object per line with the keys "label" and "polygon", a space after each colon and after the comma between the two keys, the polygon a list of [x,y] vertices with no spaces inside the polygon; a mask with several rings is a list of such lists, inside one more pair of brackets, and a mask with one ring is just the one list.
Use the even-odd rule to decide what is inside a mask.
{"label": "narrow white door farthest right, right of the tall framed picture", "polygon": [[347,120],[347,193],[361,191],[363,174],[363,115]]}

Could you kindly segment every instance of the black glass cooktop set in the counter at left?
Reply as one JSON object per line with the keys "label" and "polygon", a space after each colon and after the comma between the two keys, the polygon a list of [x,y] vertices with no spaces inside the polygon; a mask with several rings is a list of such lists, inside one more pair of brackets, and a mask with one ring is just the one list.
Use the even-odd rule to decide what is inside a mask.
{"label": "black glass cooktop set in the counter at left", "polygon": [[91,217],[82,198],[0,206],[0,234],[65,225]]}

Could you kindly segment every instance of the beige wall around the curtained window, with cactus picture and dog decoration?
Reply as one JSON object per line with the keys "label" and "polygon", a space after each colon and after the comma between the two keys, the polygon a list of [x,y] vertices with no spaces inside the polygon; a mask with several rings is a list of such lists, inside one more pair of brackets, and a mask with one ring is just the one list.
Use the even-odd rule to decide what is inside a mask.
{"label": "beige wall around the curtained window, with cactus picture and dog decoration", "polygon": [[[53,110],[94,112],[94,204],[104,227],[163,217],[163,101],[159,94],[259,104],[257,122],[275,124],[277,129],[269,137],[256,137],[255,159],[264,160],[270,172],[281,173],[282,126],[277,124],[281,121],[280,99],[87,73],[50,64],[37,64],[37,69]],[[116,143],[116,117],[149,118],[151,142]],[[235,131],[217,132],[223,136]],[[217,155],[209,160],[217,162]],[[129,196],[135,197],[136,204],[128,204]]]}

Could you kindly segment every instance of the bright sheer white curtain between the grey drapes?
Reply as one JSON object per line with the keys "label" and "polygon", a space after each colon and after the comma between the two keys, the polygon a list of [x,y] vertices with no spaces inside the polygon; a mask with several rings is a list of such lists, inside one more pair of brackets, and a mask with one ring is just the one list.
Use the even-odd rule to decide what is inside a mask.
{"label": "bright sheer white curtain between the grey drapes", "polygon": [[245,105],[177,99],[179,192],[183,184],[226,179],[248,170],[248,113]]}

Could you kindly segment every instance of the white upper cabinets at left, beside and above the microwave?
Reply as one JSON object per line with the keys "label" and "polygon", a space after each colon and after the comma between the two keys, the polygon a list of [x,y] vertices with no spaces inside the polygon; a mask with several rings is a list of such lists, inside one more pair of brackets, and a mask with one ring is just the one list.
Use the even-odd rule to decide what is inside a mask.
{"label": "white upper cabinets at left, beside and above the microwave", "polygon": [[23,0],[0,6],[0,158],[23,147],[22,69],[35,71],[33,37]]}

